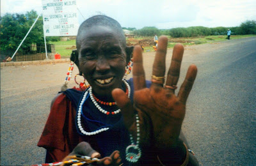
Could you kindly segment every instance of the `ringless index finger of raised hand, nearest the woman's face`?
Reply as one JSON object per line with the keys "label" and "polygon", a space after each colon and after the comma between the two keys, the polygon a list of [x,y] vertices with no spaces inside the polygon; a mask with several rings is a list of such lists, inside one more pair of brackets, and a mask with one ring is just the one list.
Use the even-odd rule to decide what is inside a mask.
{"label": "ringless index finger of raised hand, nearest the woman's face", "polygon": [[142,61],[142,50],[140,46],[136,46],[133,50],[133,68],[132,68],[132,77],[134,84],[134,91],[143,89],[146,87],[145,72],[143,69]]}

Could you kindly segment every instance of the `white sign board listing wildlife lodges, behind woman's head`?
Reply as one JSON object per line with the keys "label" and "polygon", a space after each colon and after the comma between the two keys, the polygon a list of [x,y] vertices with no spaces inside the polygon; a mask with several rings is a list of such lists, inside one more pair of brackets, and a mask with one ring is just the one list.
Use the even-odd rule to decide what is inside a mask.
{"label": "white sign board listing wildlife lodges, behind woman's head", "polygon": [[77,36],[76,0],[42,0],[44,35]]}

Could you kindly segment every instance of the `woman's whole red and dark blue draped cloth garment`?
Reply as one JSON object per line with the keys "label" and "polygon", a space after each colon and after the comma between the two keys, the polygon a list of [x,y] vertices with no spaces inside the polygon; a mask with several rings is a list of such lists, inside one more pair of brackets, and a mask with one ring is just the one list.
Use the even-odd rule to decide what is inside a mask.
{"label": "woman's whole red and dark blue draped cloth garment", "polygon": [[[127,80],[131,86],[130,99],[133,98],[133,81]],[[149,87],[151,82],[147,82]],[[125,85],[122,85],[125,91]],[[83,91],[83,92],[81,92]],[[77,132],[76,108],[83,97],[84,89],[72,88],[61,93],[51,107],[51,112],[37,146],[47,149],[47,162],[61,162],[80,142],[88,142],[102,157],[109,156],[113,151],[120,151],[120,157],[125,161],[125,148],[131,144],[129,132],[123,124],[122,114],[108,116],[102,114],[90,97],[83,104],[82,123],[86,131],[95,131],[105,124],[109,126],[106,132],[97,135],[81,135]],[[102,105],[103,109],[109,106]],[[114,107],[118,109],[118,107]],[[51,158],[49,158],[51,156]],[[125,165],[130,165],[125,163]]]}

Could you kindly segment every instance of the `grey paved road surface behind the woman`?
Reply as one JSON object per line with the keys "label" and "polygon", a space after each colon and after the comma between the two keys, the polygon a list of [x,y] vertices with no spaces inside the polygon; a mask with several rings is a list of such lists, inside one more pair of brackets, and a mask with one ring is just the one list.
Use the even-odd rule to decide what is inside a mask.
{"label": "grey paved road surface behind the woman", "polygon": [[[147,79],[153,60],[154,52],[143,54]],[[178,86],[191,63],[198,75],[182,130],[200,165],[254,165],[256,38],[185,47]],[[67,69],[68,63],[1,68],[1,165],[44,163],[36,144]]]}

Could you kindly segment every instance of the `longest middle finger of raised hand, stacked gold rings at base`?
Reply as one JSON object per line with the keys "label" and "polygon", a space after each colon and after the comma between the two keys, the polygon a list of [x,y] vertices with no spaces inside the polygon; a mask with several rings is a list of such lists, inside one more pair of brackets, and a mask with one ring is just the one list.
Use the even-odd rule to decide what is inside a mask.
{"label": "longest middle finger of raised hand, stacked gold rings at base", "polygon": [[[152,72],[152,75],[155,75],[156,77],[164,77],[167,43],[168,38],[166,36],[161,36],[158,40],[158,47]],[[161,81],[160,83],[157,83],[152,79],[152,86],[163,86],[163,84],[161,84]]]}

